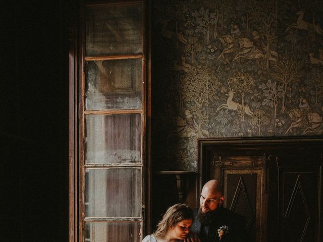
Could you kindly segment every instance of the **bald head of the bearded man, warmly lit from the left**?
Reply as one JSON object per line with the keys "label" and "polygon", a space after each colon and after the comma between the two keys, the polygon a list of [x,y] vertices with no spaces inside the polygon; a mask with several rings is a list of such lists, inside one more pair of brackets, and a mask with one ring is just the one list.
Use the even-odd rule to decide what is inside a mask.
{"label": "bald head of the bearded man, warmly lit from the left", "polygon": [[218,180],[209,180],[204,184],[201,197],[201,212],[207,213],[216,210],[224,201],[223,188]]}

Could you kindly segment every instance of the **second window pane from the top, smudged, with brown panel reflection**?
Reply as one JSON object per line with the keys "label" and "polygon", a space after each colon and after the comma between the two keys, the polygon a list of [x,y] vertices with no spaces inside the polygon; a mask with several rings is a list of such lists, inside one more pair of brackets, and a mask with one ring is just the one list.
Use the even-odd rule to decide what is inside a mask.
{"label": "second window pane from the top, smudged, with brown panel reflection", "polygon": [[141,58],[88,62],[87,110],[141,108]]}

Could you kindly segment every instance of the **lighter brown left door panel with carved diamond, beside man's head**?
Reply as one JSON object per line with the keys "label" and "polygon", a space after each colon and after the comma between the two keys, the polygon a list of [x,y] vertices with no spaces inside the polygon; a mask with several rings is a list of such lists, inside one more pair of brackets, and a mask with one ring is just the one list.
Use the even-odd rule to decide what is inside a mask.
{"label": "lighter brown left door panel with carved diamond, beside man's head", "polygon": [[246,219],[249,241],[265,240],[265,156],[214,156],[210,178],[224,188],[224,206]]}

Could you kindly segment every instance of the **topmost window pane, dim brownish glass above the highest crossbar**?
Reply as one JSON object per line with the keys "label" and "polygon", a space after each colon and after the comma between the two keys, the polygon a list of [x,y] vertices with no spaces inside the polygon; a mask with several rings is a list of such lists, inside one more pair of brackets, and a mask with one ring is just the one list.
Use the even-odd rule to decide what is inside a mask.
{"label": "topmost window pane, dim brownish glass above the highest crossbar", "polygon": [[86,55],[142,53],[142,5],[86,9]]}

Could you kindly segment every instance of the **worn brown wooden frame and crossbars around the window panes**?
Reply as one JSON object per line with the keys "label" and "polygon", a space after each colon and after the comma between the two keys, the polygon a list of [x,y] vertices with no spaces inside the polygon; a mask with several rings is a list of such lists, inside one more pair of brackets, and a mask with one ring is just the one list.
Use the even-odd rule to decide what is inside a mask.
{"label": "worn brown wooden frame and crossbars around the window panes", "polygon": [[[114,3],[112,3],[114,2]],[[145,231],[150,230],[150,90],[151,90],[151,37],[150,31],[150,1],[106,1],[99,4],[121,5],[141,3],[143,9],[142,28],[142,54],[130,55],[109,55],[109,56],[85,56],[84,54],[84,10],[88,5],[95,3],[84,3],[75,1],[75,13],[70,17],[69,23],[69,242],[85,241],[83,231],[85,231],[85,161],[84,161],[84,120],[85,114],[129,114],[140,113],[141,115],[141,164],[119,164],[119,165],[93,165],[95,168],[109,167],[141,167],[141,205],[142,212],[141,236]],[[148,21],[147,21],[148,20]],[[84,64],[86,61],[106,60],[106,59],[142,59],[142,90],[141,108],[138,109],[116,109],[116,110],[85,110],[85,75]],[[106,221],[133,221],[134,218],[107,218]],[[135,218],[137,220],[137,218]]]}

